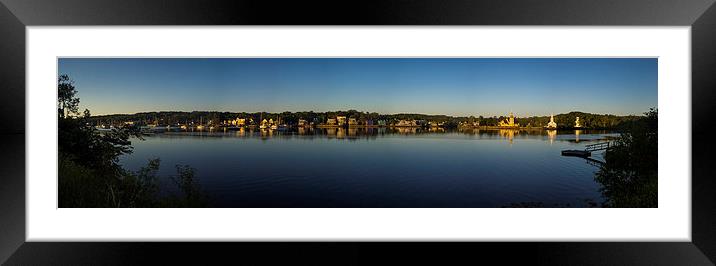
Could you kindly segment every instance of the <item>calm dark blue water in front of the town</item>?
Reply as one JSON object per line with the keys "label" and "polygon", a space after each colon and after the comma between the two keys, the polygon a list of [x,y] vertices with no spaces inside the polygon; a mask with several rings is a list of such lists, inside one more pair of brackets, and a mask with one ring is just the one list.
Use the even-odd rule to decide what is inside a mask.
{"label": "calm dark blue water in front of the town", "polygon": [[[598,168],[564,149],[604,131],[314,129],[175,132],[134,140],[121,159],[197,170],[215,207],[504,207],[601,202]],[[599,158],[601,154],[596,153]]]}

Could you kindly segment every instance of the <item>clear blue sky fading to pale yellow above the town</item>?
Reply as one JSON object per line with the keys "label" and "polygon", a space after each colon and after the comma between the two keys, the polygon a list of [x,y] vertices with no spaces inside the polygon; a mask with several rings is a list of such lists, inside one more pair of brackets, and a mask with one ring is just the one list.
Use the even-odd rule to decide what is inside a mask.
{"label": "clear blue sky fading to pale yellow above the town", "polygon": [[642,114],[656,58],[61,58],[80,110]]}

